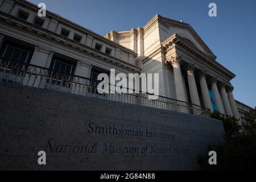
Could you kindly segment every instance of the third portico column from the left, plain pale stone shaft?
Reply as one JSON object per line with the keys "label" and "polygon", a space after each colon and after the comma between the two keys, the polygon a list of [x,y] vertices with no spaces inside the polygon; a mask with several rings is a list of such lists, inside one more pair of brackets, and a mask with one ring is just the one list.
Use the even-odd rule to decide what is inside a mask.
{"label": "third portico column from the left, plain pale stone shaft", "polygon": [[201,93],[204,100],[204,106],[210,110],[212,109],[212,101],[210,100],[210,94],[207,86],[207,81],[205,79],[205,73],[201,73],[200,75],[200,86],[201,86]]}

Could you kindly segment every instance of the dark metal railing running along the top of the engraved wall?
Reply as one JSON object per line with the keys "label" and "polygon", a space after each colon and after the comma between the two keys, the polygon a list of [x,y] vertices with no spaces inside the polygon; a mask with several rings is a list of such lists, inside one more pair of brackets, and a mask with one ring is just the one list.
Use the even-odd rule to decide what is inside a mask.
{"label": "dark metal railing running along the top of the engraved wall", "polygon": [[[97,85],[101,81],[9,60],[3,57],[0,58],[0,81],[210,117],[210,109],[189,102],[163,96],[158,96],[155,100],[150,100],[148,97],[152,97],[152,94],[141,92],[100,94],[98,93]],[[109,85],[108,91],[113,90],[113,87],[115,85]]]}

